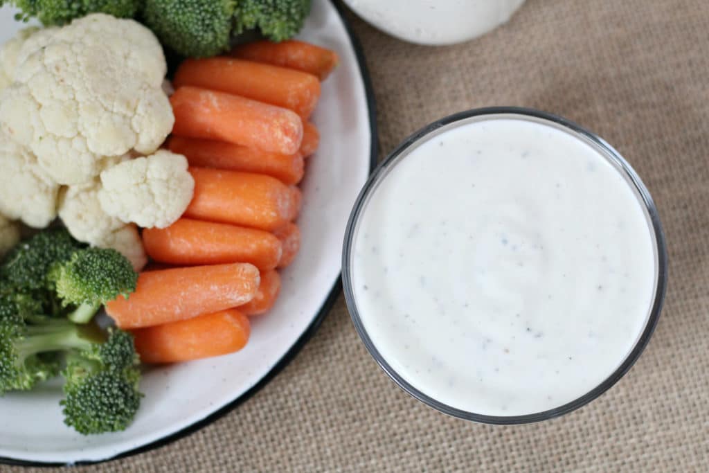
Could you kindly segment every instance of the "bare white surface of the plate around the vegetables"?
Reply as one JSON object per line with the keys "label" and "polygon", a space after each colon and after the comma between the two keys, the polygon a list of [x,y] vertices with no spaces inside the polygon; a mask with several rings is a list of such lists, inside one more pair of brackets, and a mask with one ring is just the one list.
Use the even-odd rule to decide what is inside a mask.
{"label": "bare white surface of the plate around the vegetables", "polygon": [[[13,11],[0,9],[0,42],[20,27]],[[298,223],[303,245],[282,274],[277,306],[253,321],[251,339],[241,352],[147,372],[140,386],[143,404],[125,432],[84,437],[67,428],[58,382],[7,394],[0,398],[0,462],[96,462],[179,438],[265,384],[317,328],[339,292],[345,225],[376,158],[376,136],[364,62],[330,1],[313,2],[300,38],[336,50],[340,67],[323,83],[313,116],[322,139],[302,184]]]}

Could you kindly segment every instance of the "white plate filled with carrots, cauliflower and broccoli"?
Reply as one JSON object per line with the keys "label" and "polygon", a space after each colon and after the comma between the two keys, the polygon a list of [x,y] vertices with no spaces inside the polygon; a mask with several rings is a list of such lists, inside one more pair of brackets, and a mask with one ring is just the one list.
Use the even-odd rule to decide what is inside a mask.
{"label": "white plate filled with carrots, cauliflower and broccoli", "polygon": [[[150,6],[140,6],[143,1]],[[227,12],[236,19],[229,21],[226,30],[220,30],[216,23],[206,28],[216,35],[204,35],[204,28],[197,28],[194,18],[178,18],[174,12],[160,11],[162,6],[170,4],[169,1],[107,2],[110,5],[107,8],[116,9],[108,13],[135,17],[155,33],[155,36],[150,33],[146,36],[146,28],[134,31],[133,26],[121,23],[120,28],[127,29],[123,31],[123,38],[118,35],[116,40],[111,39],[111,27],[101,23],[103,17],[89,20],[94,21],[94,26],[77,24],[76,21],[70,23],[71,18],[67,21],[64,17],[70,14],[74,18],[91,12],[79,12],[79,15],[76,11],[58,9],[56,5],[61,2],[46,8],[41,1],[5,3],[0,7],[0,43],[15,38],[18,31],[28,25],[40,25],[35,17],[45,24],[57,21],[60,25],[68,23],[70,26],[55,27],[62,28],[65,33],[56,33],[57,36],[50,40],[46,35],[45,38],[39,35],[40,39],[35,35],[30,38],[41,43],[45,54],[45,60],[38,61],[34,69],[18,67],[17,77],[12,79],[9,78],[11,73],[0,67],[0,81],[5,81],[0,85],[8,87],[11,84],[16,91],[11,99],[5,95],[4,103],[0,103],[0,128],[3,133],[12,135],[11,140],[3,141],[0,158],[13,155],[16,160],[35,163],[33,166],[36,162],[31,160],[38,160],[37,169],[42,169],[31,179],[23,176],[23,185],[35,189],[36,200],[18,199],[6,206],[0,205],[0,240],[6,238],[6,243],[15,238],[16,241],[17,235],[13,232],[17,230],[9,223],[14,219],[34,228],[49,225],[57,216],[53,205],[58,208],[60,220],[81,243],[60,241],[60,249],[55,250],[57,245],[52,240],[52,255],[66,253],[66,256],[60,262],[53,262],[51,269],[46,271],[47,276],[43,276],[50,288],[48,291],[52,291],[52,297],[56,298],[45,301],[43,307],[48,304],[55,307],[55,312],[62,318],[60,322],[51,321],[52,337],[56,340],[57,333],[65,333],[63,327],[74,330],[70,337],[62,335],[71,339],[69,345],[74,344],[71,350],[67,349],[66,359],[62,359],[62,375],[47,376],[48,380],[36,385],[36,380],[32,379],[30,383],[27,376],[17,378],[8,389],[7,370],[13,365],[8,365],[6,360],[3,360],[5,365],[0,362],[0,374],[6,376],[6,392],[0,396],[0,462],[81,464],[150,450],[207,425],[264,386],[306,343],[339,294],[342,237],[347,217],[376,160],[374,99],[362,53],[340,11],[327,0],[313,0],[309,16],[303,13],[299,17],[298,9],[289,10],[292,18],[278,16],[280,12],[259,10],[261,4],[258,1],[240,1],[237,4],[241,11]],[[296,4],[296,1],[282,1],[284,5],[289,3]],[[101,1],[94,3],[101,4]],[[307,1],[303,2],[303,5],[307,4]],[[16,5],[23,9],[28,23],[16,21]],[[150,8],[152,11],[140,13],[141,9]],[[133,11],[136,9],[138,13]],[[178,27],[185,28],[186,33],[174,33],[179,28],[163,18],[182,22]],[[84,18],[80,20],[84,21]],[[115,22],[116,18],[108,18],[108,21]],[[185,27],[186,24],[189,27]],[[92,37],[98,38],[96,31],[99,28],[106,30],[106,56],[110,58],[118,51],[116,57],[108,62],[98,56],[89,57],[83,63],[78,60],[78,65],[68,62],[67,68],[74,68],[68,72],[43,70],[50,63],[52,54],[53,57],[67,54],[57,47],[56,38],[62,40],[62,45],[69,44],[68,51],[71,52],[70,48],[84,45],[79,43],[86,38],[89,41]],[[337,67],[330,73],[334,62],[318,62],[313,56],[309,62],[289,62],[296,55],[287,52],[284,56],[281,54],[284,50],[273,52],[263,41],[245,41],[243,38],[251,37],[249,33],[244,35],[243,31],[250,29],[259,30],[264,38],[274,40],[290,38],[299,31],[296,40],[334,52],[333,57],[339,58]],[[61,34],[64,34],[63,38]],[[234,35],[240,35],[241,45],[227,52],[224,43]],[[121,53],[124,47],[120,43],[125,38],[143,42],[140,52]],[[161,72],[160,67],[155,67],[150,60],[150,48],[155,49],[155,45],[162,45],[168,57],[171,48],[182,50],[184,55],[212,57],[220,53],[220,56],[186,60],[172,77],[174,84],[160,84],[160,74],[164,71]],[[21,61],[17,59],[18,55],[21,56],[18,50],[4,52],[0,61],[7,64],[8,57],[11,61]],[[226,57],[228,54],[231,56]],[[247,62],[234,69],[234,56],[239,58],[237,62],[270,63],[294,71],[303,67],[301,70],[313,75],[308,79],[296,71],[292,77],[286,72],[269,77],[268,69]],[[69,54],[67,57],[74,56]],[[121,87],[125,84],[106,81],[106,76],[101,76],[111,74],[110,70],[106,72],[111,61],[125,65],[125,84],[133,84],[140,94],[131,97],[128,92],[122,93]],[[103,67],[104,70],[96,76],[89,76],[94,74],[92,67]],[[25,72],[19,72],[21,70]],[[113,115],[106,116],[101,109],[105,100],[102,102],[99,96],[91,104],[86,101],[79,104],[75,110],[66,104],[53,108],[44,104],[43,112],[36,118],[32,115],[35,112],[31,101],[42,101],[42,91],[53,90],[54,95],[48,100],[62,96],[62,89],[58,86],[53,89],[50,84],[56,79],[52,74],[57,77],[65,74],[62,77],[68,77],[69,85],[71,74],[78,74],[77,83],[90,84],[99,90],[99,95],[103,90],[108,94],[103,99],[108,96],[113,100],[118,94],[127,97],[126,103],[135,100],[140,104],[134,104],[135,114],[126,118],[116,113],[122,102],[114,102],[113,108],[106,107]],[[38,77],[44,77],[44,82]],[[238,79],[232,84],[233,77]],[[99,82],[101,79],[104,82]],[[56,82],[62,84],[61,80]],[[254,83],[259,83],[259,87],[252,90],[250,84]],[[264,89],[264,84],[269,84],[271,89]],[[228,90],[224,91],[222,85]],[[283,92],[284,87],[300,90],[295,102],[292,96]],[[169,100],[161,96],[160,89],[170,96]],[[23,94],[28,98],[23,98]],[[84,95],[76,93],[72,100],[80,101]],[[248,98],[244,99],[242,95]],[[262,105],[261,102],[268,104]],[[28,104],[30,108],[23,108]],[[166,107],[167,110],[172,108],[174,123],[172,113],[170,121],[156,119]],[[284,112],[284,109],[289,111]],[[238,119],[227,113],[231,110],[239,111]],[[269,119],[264,120],[264,116]],[[91,123],[91,119],[95,123]],[[33,133],[26,133],[21,128],[28,122],[33,123]],[[158,150],[170,130],[172,135]],[[62,156],[67,154],[62,153],[62,149],[66,150],[62,146],[67,143],[74,147],[74,151],[83,153],[79,153],[81,166],[62,161]],[[252,149],[259,151],[255,154]],[[311,153],[313,155],[306,160],[300,157]],[[278,156],[286,155],[294,156],[294,160],[284,164]],[[225,170],[229,162],[240,164],[236,169]],[[2,165],[9,169],[5,162]],[[40,179],[43,172],[48,172],[51,179]],[[48,189],[48,184],[43,184],[45,182],[58,184],[54,189]],[[225,203],[233,202],[229,200],[236,192],[233,189],[239,189],[243,182],[247,183],[243,184],[245,188],[251,190],[240,194],[240,198],[251,196],[259,205],[266,206],[266,211],[254,214],[242,211],[242,206],[225,206]],[[9,186],[8,182],[0,184]],[[11,191],[21,193],[22,189]],[[54,204],[46,198],[52,192],[55,192],[53,199],[58,199]],[[6,194],[0,192],[0,197]],[[271,198],[274,199],[273,207],[268,207],[271,204],[264,202]],[[92,216],[86,210],[92,208],[86,204],[90,199],[95,203],[94,210],[105,212],[111,218],[101,220]],[[248,207],[248,198],[245,199],[243,206]],[[76,204],[69,205],[72,202]],[[298,247],[294,241],[298,230],[300,249],[296,255]],[[31,232],[27,233],[27,227],[22,232],[23,238],[31,235]],[[31,255],[32,245],[37,241],[43,243],[43,238],[68,233],[62,228],[54,228],[43,230],[39,235],[33,237],[37,240],[23,240],[8,255],[26,256],[30,253],[30,262],[42,263],[43,258],[47,259],[46,254],[43,258]],[[135,245],[140,238],[143,242]],[[177,241],[191,241],[191,249],[176,245]],[[224,241],[242,242],[242,245],[224,245]],[[247,244],[250,242],[257,244],[250,247]],[[0,241],[0,246],[5,243]],[[77,246],[65,251],[67,245]],[[142,269],[146,253],[151,262]],[[23,261],[21,257],[18,260]],[[131,271],[130,263],[140,270],[140,277]],[[169,266],[165,266],[166,263]],[[7,277],[8,269],[4,271],[5,275],[0,274],[0,279],[14,277],[22,282],[28,279],[22,279],[24,273],[15,269],[11,269],[13,277]],[[88,279],[86,274],[90,275]],[[97,278],[100,283],[96,282]],[[191,284],[200,280],[201,284]],[[6,282],[0,281],[0,299],[11,294],[6,287]],[[90,293],[88,296],[87,292]],[[14,301],[13,304],[20,303]],[[103,304],[106,304],[110,317],[99,313],[89,325],[81,325],[91,320],[96,308]],[[229,308],[234,305],[237,307]],[[203,313],[205,311],[208,313]],[[175,313],[182,313],[184,317],[175,321]],[[37,323],[45,323],[44,318],[40,319]],[[34,318],[28,320],[32,330],[40,330],[37,325],[32,325],[35,324]],[[114,322],[121,330],[106,328],[107,323]],[[93,333],[91,330],[99,330],[97,333],[101,335],[95,339],[99,340],[95,345],[86,345],[85,340],[94,340],[91,334],[84,338],[84,333]],[[233,336],[228,340],[211,338],[210,333],[220,332]],[[202,334],[202,340],[189,335],[194,333]],[[76,341],[77,334],[81,335],[81,342]],[[126,340],[130,340],[125,334],[133,335],[135,348],[125,345]],[[30,336],[23,337],[24,345],[6,344],[5,350],[8,346],[14,350],[18,346],[30,345]],[[79,345],[83,351],[76,348]],[[130,350],[123,350],[124,345],[140,354],[142,365],[134,363]],[[74,361],[77,354],[81,360]],[[56,374],[53,369],[45,371]],[[56,369],[60,369],[58,364]],[[82,398],[87,389],[82,382],[94,379],[94,369],[106,377],[109,376],[106,373],[118,377],[121,380],[118,384],[123,383],[121,389],[127,389],[125,386],[140,377],[142,396],[139,396],[140,407],[134,417],[131,414],[121,418],[116,406],[103,405],[98,408],[102,413],[100,418],[72,414],[72,408],[87,406],[86,409],[91,411],[100,404],[91,396],[88,400]],[[119,371],[121,374],[116,375]],[[40,375],[33,373],[33,376]],[[0,381],[3,381],[2,377]],[[22,388],[23,383],[33,384],[32,389]],[[16,384],[28,390],[16,391],[12,387]],[[111,395],[115,397],[118,391],[111,391]],[[124,411],[138,405],[138,398],[128,397],[130,400],[126,398],[119,406]],[[62,399],[63,408],[59,405]],[[98,435],[84,435],[86,433]]]}

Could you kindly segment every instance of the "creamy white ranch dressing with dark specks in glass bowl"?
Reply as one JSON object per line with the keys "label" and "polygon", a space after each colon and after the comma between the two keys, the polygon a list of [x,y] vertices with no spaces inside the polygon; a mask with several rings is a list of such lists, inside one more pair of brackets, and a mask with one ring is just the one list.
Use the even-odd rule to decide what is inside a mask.
{"label": "creamy white ranch dressing with dark specks in glass bowl", "polygon": [[362,211],[359,317],[416,389],[489,416],[557,408],[601,384],[649,317],[647,211],[607,157],[525,118],[447,130]]}

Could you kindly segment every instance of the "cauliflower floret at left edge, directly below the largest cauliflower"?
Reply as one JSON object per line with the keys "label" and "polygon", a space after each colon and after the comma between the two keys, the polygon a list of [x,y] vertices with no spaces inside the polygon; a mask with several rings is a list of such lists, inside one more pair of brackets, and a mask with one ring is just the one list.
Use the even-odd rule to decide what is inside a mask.
{"label": "cauliflower floret at left edge, directly below the largest cauliflower", "polygon": [[0,213],[45,228],[57,216],[58,194],[35,155],[0,133]]}

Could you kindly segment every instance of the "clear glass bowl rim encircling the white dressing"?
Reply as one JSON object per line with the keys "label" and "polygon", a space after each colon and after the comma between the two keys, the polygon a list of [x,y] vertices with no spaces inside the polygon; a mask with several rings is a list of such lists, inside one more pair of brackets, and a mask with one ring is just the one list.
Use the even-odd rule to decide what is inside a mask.
{"label": "clear glass bowl rim encircling the white dressing", "polygon": [[[354,232],[357,228],[357,223],[359,222],[359,217],[362,215],[362,210],[367,204],[369,196],[371,196],[376,189],[377,185],[386,177],[387,172],[396,165],[398,162],[398,157],[401,159],[406,159],[406,152],[413,146],[420,143],[424,143],[427,138],[435,135],[435,132],[440,128],[450,126],[458,121],[464,121],[467,118],[474,118],[479,116],[527,116],[531,118],[536,118],[540,121],[547,121],[549,123],[555,124],[560,128],[569,131],[571,134],[575,134],[582,140],[586,140],[589,144],[598,148],[609,160],[615,163],[621,172],[624,172],[629,180],[629,184],[637,190],[640,201],[644,204],[649,215],[650,230],[653,233],[655,239],[655,246],[657,250],[657,282],[655,286],[654,299],[652,301],[652,306],[650,308],[650,313],[647,319],[647,323],[644,326],[642,333],[638,337],[635,346],[632,348],[630,353],[625,357],[623,363],[615,369],[615,371],[610,374],[609,377],[603,380],[598,386],[589,391],[588,393],[580,396],[574,401],[570,401],[557,408],[549,409],[547,411],[542,411],[538,413],[526,414],[523,416],[487,416],[479,413],[464,411],[459,408],[454,408],[443,404],[436,399],[424,394],[419,389],[415,388],[411,383],[403,379],[400,374],[394,370],[391,365],[389,365],[384,357],[381,356],[379,350],[369,338],[367,334],[367,329],[364,328],[362,319],[359,317],[359,311],[357,309],[357,299],[354,296],[354,291],[352,289],[352,276],[351,276],[351,257],[352,257],[352,245],[354,244]],[[381,162],[379,166],[374,169],[374,172],[369,176],[367,184],[364,184],[362,191],[357,197],[357,202],[354,204],[352,209],[352,214],[350,215],[350,221],[347,223],[347,230],[345,231],[345,244],[342,249],[342,284],[345,291],[345,301],[347,302],[347,308],[350,311],[350,316],[352,317],[352,323],[354,323],[354,328],[359,334],[359,338],[367,347],[369,354],[374,357],[379,367],[391,378],[391,380],[398,385],[399,388],[403,389],[406,393],[413,396],[415,399],[423,402],[427,406],[436,409],[442,413],[445,413],[452,417],[461,418],[467,421],[474,421],[478,423],[489,423],[497,425],[513,425],[513,424],[524,424],[533,423],[539,421],[545,421],[547,419],[552,419],[555,417],[562,416],[563,414],[575,411],[588,404],[589,402],[601,396],[605,391],[608,391],[611,386],[617,383],[620,378],[622,378],[625,373],[630,370],[632,365],[635,364],[637,359],[640,357],[644,347],[649,343],[652,333],[662,309],[662,304],[664,302],[664,296],[667,286],[667,251],[666,243],[664,238],[664,232],[660,223],[659,214],[657,208],[655,207],[652,197],[644,186],[640,177],[635,173],[630,164],[623,158],[623,156],[618,153],[612,146],[605,142],[602,138],[598,137],[594,133],[586,130],[574,122],[566,120],[560,116],[554,115],[552,113],[547,113],[543,111],[538,111],[532,108],[522,108],[522,107],[487,107],[487,108],[474,108],[468,111],[462,111],[459,113],[454,113],[453,115],[441,118],[430,125],[421,128],[413,135],[403,140],[403,142],[396,147],[395,150],[387,156],[384,161]]]}

